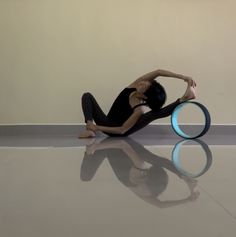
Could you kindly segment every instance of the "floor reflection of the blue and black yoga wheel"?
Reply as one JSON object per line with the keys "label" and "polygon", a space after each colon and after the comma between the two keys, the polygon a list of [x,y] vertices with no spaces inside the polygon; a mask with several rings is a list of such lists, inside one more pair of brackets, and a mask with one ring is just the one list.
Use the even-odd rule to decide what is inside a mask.
{"label": "floor reflection of the blue and black yoga wheel", "polygon": [[[181,159],[183,157],[180,156],[181,149],[184,148],[183,145],[185,143],[188,143],[188,142],[190,142],[190,143],[192,142],[193,144],[196,144],[197,146],[200,146],[202,148],[203,152],[204,152],[204,155],[205,155],[205,158],[204,158],[205,162],[204,162],[203,167],[200,170],[195,171],[195,172],[190,172],[190,171],[188,171],[186,169],[186,167],[184,167],[183,163],[186,163],[186,161],[188,159],[187,160],[184,159],[185,162],[183,162],[183,160]],[[188,158],[191,158],[191,157],[188,157]],[[194,140],[186,140],[186,139],[184,139],[184,140],[178,142],[175,145],[175,147],[174,147],[174,149],[172,151],[172,162],[173,162],[175,168],[181,174],[183,174],[185,176],[188,176],[188,177],[191,177],[191,178],[197,178],[197,177],[203,175],[204,173],[206,173],[209,170],[209,168],[211,167],[211,164],[212,164],[212,153],[211,153],[210,148],[208,147],[208,145],[205,142],[203,142],[203,141],[201,141],[199,139],[194,139]]]}

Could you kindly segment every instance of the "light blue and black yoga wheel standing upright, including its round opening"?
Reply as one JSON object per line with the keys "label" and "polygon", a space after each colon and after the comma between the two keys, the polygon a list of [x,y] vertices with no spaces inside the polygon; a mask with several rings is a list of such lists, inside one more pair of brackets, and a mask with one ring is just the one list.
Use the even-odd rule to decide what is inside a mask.
{"label": "light blue and black yoga wheel standing upright, including its round opening", "polygon": [[[186,117],[200,120],[195,125],[184,121]],[[211,126],[211,116],[207,108],[196,101],[186,101],[179,104],[171,115],[171,126],[175,133],[185,139],[195,139],[203,136]]]}

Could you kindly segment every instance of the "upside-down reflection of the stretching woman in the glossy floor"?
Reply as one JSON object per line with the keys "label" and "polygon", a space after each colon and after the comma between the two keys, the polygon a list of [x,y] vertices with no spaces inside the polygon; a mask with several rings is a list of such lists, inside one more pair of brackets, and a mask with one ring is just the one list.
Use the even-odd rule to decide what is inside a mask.
{"label": "upside-down reflection of the stretching woman in the glossy floor", "polygon": [[[153,154],[130,138],[107,138],[87,146],[81,165],[81,180],[90,181],[105,158],[119,181],[150,204],[170,207],[193,201],[199,196],[196,180],[182,175],[169,159]],[[168,201],[158,198],[168,185],[166,170],[187,184],[190,190],[187,198]]]}

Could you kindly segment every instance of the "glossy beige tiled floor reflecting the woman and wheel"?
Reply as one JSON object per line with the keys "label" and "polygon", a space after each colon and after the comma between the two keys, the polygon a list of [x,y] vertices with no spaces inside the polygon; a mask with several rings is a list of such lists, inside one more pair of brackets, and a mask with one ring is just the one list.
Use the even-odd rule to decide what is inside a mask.
{"label": "glossy beige tiled floor reflecting the woman and wheel", "polygon": [[216,140],[5,140],[0,236],[234,237],[236,145]]}

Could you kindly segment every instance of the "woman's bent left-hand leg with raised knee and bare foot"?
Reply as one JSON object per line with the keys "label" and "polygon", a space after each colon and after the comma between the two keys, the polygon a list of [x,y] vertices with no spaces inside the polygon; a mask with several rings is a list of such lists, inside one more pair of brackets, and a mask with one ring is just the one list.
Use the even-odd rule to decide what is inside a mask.
{"label": "woman's bent left-hand leg with raised knee and bare foot", "polygon": [[[105,115],[105,113],[102,111],[101,107],[97,103],[94,96],[86,92],[83,94],[82,99],[82,110],[84,113],[85,123],[92,123],[93,121],[98,125],[104,125],[109,126],[110,121]],[[91,130],[86,130],[83,133],[80,134],[80,138],[88,138],[88,137],[94,137],[95,133]]]}

